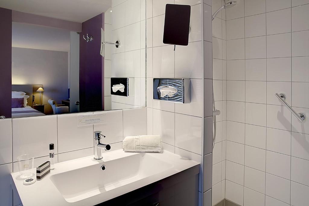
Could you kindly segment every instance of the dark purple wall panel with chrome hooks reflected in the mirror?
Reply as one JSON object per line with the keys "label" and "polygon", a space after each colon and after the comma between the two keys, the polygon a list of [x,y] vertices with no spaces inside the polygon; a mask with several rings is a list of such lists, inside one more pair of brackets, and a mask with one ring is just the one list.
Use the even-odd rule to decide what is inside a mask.
{"label": "dark purple wall panel with chrome hooks reflected in the mirror", "polygon": [[[79,111],[104,110],[104,57],[100,55],[104,13],[82,23],[79,34]],[[83,35],[93,41],[83,39]]]}

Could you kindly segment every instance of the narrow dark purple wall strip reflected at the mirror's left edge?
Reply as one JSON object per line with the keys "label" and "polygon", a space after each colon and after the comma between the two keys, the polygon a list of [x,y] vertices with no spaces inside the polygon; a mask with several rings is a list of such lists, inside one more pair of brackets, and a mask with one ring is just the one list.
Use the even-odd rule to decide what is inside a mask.
{"label": "narrow dark purple wall strip reflected at the mirror's left edge", "polygon": [[12,10],[0,7],[0,116],[11,118],[12,102]]}

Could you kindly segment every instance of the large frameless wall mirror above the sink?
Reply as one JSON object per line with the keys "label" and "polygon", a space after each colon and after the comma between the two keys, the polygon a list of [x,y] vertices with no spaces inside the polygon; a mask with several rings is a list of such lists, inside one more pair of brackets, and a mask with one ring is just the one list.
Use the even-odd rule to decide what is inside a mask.
{"label": "large frameless wall mirror above the sink", "polygon": [[0,2],[0,116],[146,106],[142,1]]}

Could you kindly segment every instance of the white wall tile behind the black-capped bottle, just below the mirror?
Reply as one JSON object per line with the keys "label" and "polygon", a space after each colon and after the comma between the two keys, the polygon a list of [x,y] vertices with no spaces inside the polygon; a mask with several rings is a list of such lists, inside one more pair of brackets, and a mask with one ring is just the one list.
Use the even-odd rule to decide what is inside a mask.
{"label": "white wall tile behind the black-capped bottle, just below the mirror", "polygon": [[[33,132],[34,127],[36,132]],[[12,128],[13,161],[17,161],[17,156],[23,154],[34,157],[48,155],[49,144],[57,145],[56,115],[15,118],[12,119]],[[58,153],[56,146],[55,153]]]}

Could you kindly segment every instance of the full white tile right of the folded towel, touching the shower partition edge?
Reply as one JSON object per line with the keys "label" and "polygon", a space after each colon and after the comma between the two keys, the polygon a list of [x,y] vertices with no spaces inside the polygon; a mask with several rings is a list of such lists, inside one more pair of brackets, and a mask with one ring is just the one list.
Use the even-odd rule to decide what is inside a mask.
{"label": "full white tile right of the folded towel, touching the shower partition edge", "polygon": [[175,114],[175,146],[201,154],[202,118]]}

